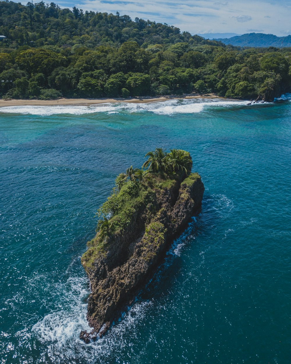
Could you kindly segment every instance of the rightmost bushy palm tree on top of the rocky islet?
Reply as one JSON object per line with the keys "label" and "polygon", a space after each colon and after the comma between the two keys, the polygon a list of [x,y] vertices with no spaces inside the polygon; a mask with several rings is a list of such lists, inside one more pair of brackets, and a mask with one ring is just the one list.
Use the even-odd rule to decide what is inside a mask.
{"label": "rightmost bushy palm tree on top of the rocky islet", "polygon": [[175,173],[189,174],[192,169],[190,154],[182,149],[171,149],[166,156],[166,166]]}

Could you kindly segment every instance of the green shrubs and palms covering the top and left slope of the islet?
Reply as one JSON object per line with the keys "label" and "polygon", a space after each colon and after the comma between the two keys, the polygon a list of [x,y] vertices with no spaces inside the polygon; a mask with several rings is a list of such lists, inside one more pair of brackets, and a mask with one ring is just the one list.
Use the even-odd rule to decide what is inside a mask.
{"label": "green shrubs and palms covering the top and left slope of the islet", "polygon": [[[87,266],[92,265],[99,254],[104,254],[113,241],[121,236],[128,237],[129,230],[140,215],[144,215],[146,221],[151,221],[156,213],[158,190],[171,189],[182,179],[186,183],[188,179],[193,182],[198,176],[191,174],[192,159],[187,151],[172,149],[170,153],[165,153],[163,149],[157,148],[147,153],[146,157],[149,157],[145,163],[148,169],[133,169],[130,166],[126,173],[119,174],[113,193],[97,211],[97,234],[87,243],[88,250],[82,258]],[[149,160],[157,159],[159,168],[149,163]],[[152,224],[156,231],[157,223]]]}

